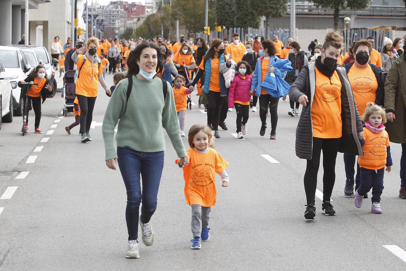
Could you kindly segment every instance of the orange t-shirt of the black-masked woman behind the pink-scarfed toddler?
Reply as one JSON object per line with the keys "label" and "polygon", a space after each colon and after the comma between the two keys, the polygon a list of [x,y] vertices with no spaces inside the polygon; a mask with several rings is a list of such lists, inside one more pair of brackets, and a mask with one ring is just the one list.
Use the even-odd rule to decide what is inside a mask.
{"label": "orange t-shirt of the black-masked woman behind the pink-scarfed toddler", "polygon": [[347,75],[350,80],[352,94],[354,95],[359,116],[362,119],[362,115],[364,115],[365,109],[367,108],[367,103],[375,102],[376,100],[378,81],[369,65],[365,69],[358,69],[354,64]]}

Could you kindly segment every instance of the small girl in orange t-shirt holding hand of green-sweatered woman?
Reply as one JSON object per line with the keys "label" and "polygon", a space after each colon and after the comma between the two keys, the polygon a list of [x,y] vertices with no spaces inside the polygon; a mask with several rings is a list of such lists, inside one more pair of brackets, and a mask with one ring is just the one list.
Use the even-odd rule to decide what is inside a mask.
{"label": "small girl in orange t-shirt holding hand of green-sweatered woman", "polygon": [[192,207],[192,249],[201,249],[200,240],[209,239],[209,218],[212,206],[216,205],[216,173],[221,176],[223,187],[227,187],[228,166],[213,147],[213,131],[205,124],[195,124],[189,130],[190,149],[186,151],[190,163],[183,167],[186,203]]}

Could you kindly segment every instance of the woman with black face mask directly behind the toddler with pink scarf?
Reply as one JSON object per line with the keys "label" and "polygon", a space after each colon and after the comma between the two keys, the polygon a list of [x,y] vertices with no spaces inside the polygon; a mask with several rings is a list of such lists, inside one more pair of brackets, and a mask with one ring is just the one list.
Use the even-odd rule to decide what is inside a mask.
{"label": "woman with black face mask directly behind the toddler with pink scarf", "polygon": [[[385,76],[380,67],[369,63],[371,51],[372,44],[369,41],[366,39],[357,41],[352,47],[355,62],[344,65],[360,117],[364,115],[367,103],[373,102],[380,106],[384,105]],[[354,164],[355,155],[344,153],[346,169],[344,195],[346,196],[354,195]],[[355,190],[360,184],[359,165],[357,163]],[[365,194],[364,197],[368,197],[368,194]]]}

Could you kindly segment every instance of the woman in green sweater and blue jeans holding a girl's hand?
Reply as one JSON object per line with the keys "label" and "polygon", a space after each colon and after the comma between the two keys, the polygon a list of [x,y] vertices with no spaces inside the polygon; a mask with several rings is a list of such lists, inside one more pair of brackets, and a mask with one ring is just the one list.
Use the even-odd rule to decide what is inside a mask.
{"label": "woman in green sweater and blue jeans holding a girl's hand", "polygon": [[[165,139],[168,133],[180,157],[180,165],[188,165],[184,144],[179,134],[175,100],[171,85],[155,75],[162,72],[166,56],[155,43],[143,43],[132,51],[127,60],[127,78],[121,80],[110,99],[103,120],[103,138],[106,165],[116,169],[120,165],[125,188],[127,208],[125,219],[128,229],[126,258],[139,258],[138,221],[143,243],[150,246],[154,234],[149,220],[155,212],[158,188],[164,167]],[[127,87],[132,82],[127,98]],[[166,84],[166,90],[165,85]],[[120,121],[119,121],[120,120]],[[114,128],[117,152],[114,149]],[[142,176],[142,191],[140,185]],[[138,219],[140,202],[141,216]]]}

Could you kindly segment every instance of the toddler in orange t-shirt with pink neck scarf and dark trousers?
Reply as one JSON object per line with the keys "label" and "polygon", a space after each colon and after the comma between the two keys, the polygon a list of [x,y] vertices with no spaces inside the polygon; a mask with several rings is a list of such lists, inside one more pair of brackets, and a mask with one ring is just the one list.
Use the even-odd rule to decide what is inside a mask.
{"label": "toddler in orange t-shirt with pink neck scarf and dark trousers", "polygon": [[364,156],[358,157],[361,185],[355,191],[354,204],[361,208],[364,195],[372,189],[371,212],[382,214],[380,208],[380,196],[383,190],[383,175],[391,171],[392,158],[391,147],[389,146],[388,132],[385,131],[386,123],[385,110],[369,102],[363,115],[364,137],[361,139]]}

